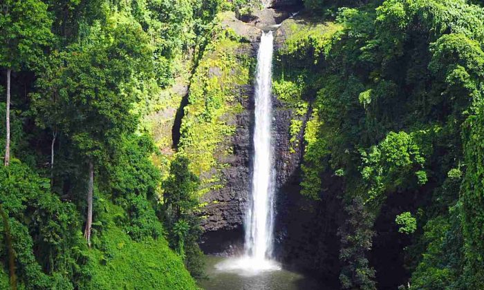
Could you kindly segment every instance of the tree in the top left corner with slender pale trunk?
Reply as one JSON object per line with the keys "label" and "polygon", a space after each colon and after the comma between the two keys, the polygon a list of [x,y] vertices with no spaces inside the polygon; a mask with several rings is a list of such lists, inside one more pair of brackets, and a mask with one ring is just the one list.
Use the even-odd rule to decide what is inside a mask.
{"label": "tree in the top left corner with slender pale trunk", "polygon": [[0,66],[7,70],[5,166],[10,162],[10,78],[12,71],[35,66],[53,38],[47,5],[39,0],[0,4]]}

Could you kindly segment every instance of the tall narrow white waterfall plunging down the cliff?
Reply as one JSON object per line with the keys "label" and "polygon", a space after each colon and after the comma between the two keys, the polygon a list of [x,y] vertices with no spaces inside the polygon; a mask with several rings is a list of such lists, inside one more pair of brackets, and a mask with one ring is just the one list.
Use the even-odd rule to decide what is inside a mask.
{"label": "tall narrow white waterfall plunging down the cliff", "polygon": [[255,83],[254,168],[252,196],[245,214],[245,254],[272,258],[274,168],[272,166],[272,31],[262,32]]}

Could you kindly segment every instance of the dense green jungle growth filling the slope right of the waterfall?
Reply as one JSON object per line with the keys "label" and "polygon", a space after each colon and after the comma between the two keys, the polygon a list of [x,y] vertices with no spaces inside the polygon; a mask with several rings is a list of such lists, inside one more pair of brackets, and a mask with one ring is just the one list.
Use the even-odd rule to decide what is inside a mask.
{"label": "dense green jungle growth filling the slope right of the waterfall", "polygon": [[[411,241],[399,254],[402,287],[481,289],[484,9],[464,0],[305,3],[306,15],[282,26],[274,90],[310,110],[301,193],[346,204],[342,287],[398,286],[382,276],[390,261],[369,262],[375,233],[397,228],[401,238],[388,243]],[[326,191],[323,178],[343,192]],[[375,229],[391,218],[393,195],[407,202]]]}

